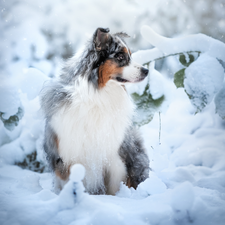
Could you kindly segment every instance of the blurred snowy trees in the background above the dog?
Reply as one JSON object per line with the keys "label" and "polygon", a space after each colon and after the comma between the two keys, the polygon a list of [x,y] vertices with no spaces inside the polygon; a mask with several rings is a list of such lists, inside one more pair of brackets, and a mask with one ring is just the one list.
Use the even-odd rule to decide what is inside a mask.
{"label": "blurred snowy trees in the background above the dog", "polygon": [[[132,51],[150,48],[147,24],[175,37],[204,33],[225,42],[225,0],[1,0],[0,71],[16,76],[36,67],[52,77],[97,27],[124,31]],[[3,72],[4,71],[4,72]]]}

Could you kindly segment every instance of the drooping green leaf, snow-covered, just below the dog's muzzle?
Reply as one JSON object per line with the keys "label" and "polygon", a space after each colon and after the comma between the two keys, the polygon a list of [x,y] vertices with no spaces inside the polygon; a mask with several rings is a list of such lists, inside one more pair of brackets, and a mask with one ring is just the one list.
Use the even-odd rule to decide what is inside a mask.
{"label": "drooping green leaf, snow-covered, just below the dog's muzzle", "polygon": [[148,124],[165,99],[164,96],[153,99],[149,91],[149,84],[146,85],[142,95],[133,93],[131,96],[137,105],[137,114],[134,118],[134,124],[138,126]]}

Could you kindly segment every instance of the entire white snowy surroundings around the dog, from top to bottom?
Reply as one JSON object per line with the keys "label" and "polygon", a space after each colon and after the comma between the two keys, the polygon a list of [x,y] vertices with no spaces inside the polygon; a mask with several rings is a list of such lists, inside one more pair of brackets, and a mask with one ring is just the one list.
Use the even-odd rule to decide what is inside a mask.
{"label": "entire white snowy surroundings around the dog, from top to bottom", "polygon": [[[91,196],[77,165],[56,195],[38,95],[97,27],[127,32],[140,63],[201,54],[187,68],[179,55],[157,60],[148,79],[127,87],[140,96],[149,83],[153,100],[164,96],[136,118],[153,117],[140,127],[150,178],[137,190],[121,184],[116,196]],[[207,36],[187,36],[198,33]],[[1,0],[0,224],[224,225],[224,42],[224,0]],[[177,88],[173,76],[184,68],[184,88]]]}

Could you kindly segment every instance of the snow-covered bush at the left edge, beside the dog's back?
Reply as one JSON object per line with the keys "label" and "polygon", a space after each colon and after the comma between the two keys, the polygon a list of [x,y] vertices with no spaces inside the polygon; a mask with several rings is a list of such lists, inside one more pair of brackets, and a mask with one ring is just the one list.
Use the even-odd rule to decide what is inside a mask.
{"label": "snow-covered bush at the left edge, beside the dog's back", "polygon": [[48,77],[29,68],[17,79],[0,84],[0,158],[4,163],[43,172],[44,121],[39,92]]}

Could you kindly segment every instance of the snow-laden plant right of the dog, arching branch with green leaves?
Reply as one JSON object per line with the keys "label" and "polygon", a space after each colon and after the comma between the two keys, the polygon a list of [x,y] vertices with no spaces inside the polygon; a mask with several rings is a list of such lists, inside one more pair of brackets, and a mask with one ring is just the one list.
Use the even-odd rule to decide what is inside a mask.
{"label": "snow-laden plant right of the dog, arching branch with green leaves", "polygon": [[[196,113],[215,99],[216,112],[225,118],[225,44],[203,34],[165,38],[148,26],[143,26],[141,33],[155,48],[134,53],[134,59],[139,63],[151,65],[156,60],[179,55],[183,68],[174,75],[176,87],[184,88],[196,108]],[[154,70],[150,70],[150,77],[152,72]],[[154,104],[160,106],[164,99],[161,95],[153,101],[151,90],[148,91],[151,85],[149,81],[142,95],[133,93],[139,115],[143,111],[148,112],[144,119],[137,122],[139,125],[146,124],[153,118],[156,111]]]}

